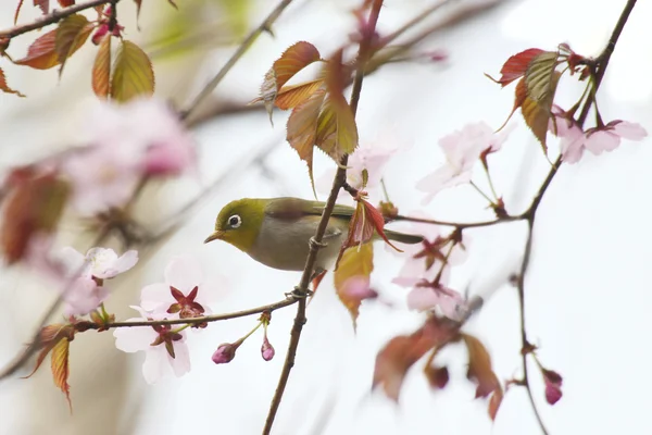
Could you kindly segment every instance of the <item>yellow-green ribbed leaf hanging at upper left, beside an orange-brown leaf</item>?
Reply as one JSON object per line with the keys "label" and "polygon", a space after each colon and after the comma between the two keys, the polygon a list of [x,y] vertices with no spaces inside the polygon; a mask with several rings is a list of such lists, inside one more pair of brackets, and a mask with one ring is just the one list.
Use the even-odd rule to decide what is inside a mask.
{"label": "yellow-green ribbed leaf hanging at upper left, beside an orange-brown leaf", "polygon": [[111,97],[125,102],[154,94],[154,71],[148,55],[134,42],[123,40],[113,64]]}

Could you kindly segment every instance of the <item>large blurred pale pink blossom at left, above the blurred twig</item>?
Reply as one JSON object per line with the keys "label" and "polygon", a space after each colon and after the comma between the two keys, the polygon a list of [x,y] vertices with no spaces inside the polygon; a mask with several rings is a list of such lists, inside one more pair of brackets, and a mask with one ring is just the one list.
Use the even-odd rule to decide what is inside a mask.
{"label": "large blurred pale pink blossom at left, above the blurred twig", "polygon": [[195,142],[163,101],[101,102],[86,124],[91,146],[64,163],[82,214],[123,206],[143,176],[179,175],[195,166]]}

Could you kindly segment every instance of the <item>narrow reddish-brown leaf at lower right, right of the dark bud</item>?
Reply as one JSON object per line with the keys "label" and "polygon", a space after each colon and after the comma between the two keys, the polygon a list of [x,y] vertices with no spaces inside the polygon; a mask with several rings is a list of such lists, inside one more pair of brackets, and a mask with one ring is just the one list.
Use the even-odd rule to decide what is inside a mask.
{"label": "narrow reddish-brown leaf at lower right, right of the dark bud", "polygon": [[462,338],[468,349],[468,371],[466,372],[466,376],[478,385],[476,398],[488,397],[493,394],[489,402],[489,414],[491,420],[493,420],[502,401],[503,394],[500,382],[491,368],[491,357],[482,343],[473,335],[462,334]]}

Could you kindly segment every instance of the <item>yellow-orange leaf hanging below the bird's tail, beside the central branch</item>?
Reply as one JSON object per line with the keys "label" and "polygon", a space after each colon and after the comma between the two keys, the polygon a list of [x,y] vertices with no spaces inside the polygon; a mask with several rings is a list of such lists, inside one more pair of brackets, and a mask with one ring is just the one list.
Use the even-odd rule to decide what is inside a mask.
{"label": "yellow-orange leaf hanging below the bird's tail, beside the central branch", "polygon": [[362,299],[358,297],[361,291],[353,287],[365,286],[368,288],[369,276],[374,270],[374,247],[372,244],[362,245],[360,249],[349,248],[335,271],[334,282],[337,296],[349,310],[355,330],[359,309]]}

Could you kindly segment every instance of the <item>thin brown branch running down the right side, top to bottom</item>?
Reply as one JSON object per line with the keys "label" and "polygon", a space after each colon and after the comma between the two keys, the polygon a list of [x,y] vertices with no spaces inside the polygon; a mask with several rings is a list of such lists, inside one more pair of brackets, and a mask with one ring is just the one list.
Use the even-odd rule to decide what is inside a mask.
{"label": "thin brown branch running down the right side, top to bottom", "polygon": [[[616,47],[616,42],[618,41],[618,38],[620,37],[620,33],[623,32],[623,28],[625,27],[625,24],[627,23],[627,20],[629,18],[629,14],[631,13],[635,4],[636,4],[636,0],[627,1],[627,4],[625,5],[625,8],[623,9],[623,12],[620,13],[620,17],[618,18],[618,22],[616,23],[616,25],[614,27],[614,30],[611,35],[611,38],[610,38],[606,47],[604,48],[602,53],[597,58],[595,65],[592,70],[594,82],[593,82],[593,91],[591,92],[591,95],[593,95],[593,96],[595,95],[595,92],[598,91],[598,88],[600,87],[600,83],[602,82],[602,78],[604,77],[604,72],[606,71],[606,66],[609,64],[611,55]],[[590,111],[591,107],[593,105],[593,103],[594,103],[594,98],[588,98],[587,101],[585,102],[585,104],[581,109],[581,112],[577,119],[577,123],[580,128],[584,126],[584,123],[586,122],[589,111]],[[525,243],[525,251],[523,254],[523,262],[521,264],[521,272],[518,275],[518,285],[517,285],[518,308],[521,311],[521,345],[522,345],[522,359],[523,359],[523,361],[522,361],[522,363],[523,363],[523,383],[522,384],[527,389],[527,394],[528,394],[530,403],[532,406],[532,410],[535,412],[535,415],[537,417],[539,426],[541,427],[541,431],[543,432],[543,434],[548,434],[548,431],[546,430],[543,420],[541,419],[541,415],[537,409],[537,405],[536,405],[536,401],[535,401],[535,398],[534,398],[534,395],[531,391],[528,372],[527,372],[527,356],[529,353],[529,349],[532,349],[532,346],[529,344],[529,341],[527,339],[526,325],[525,325],[525,275],[527,273],[527,268],[529,265],[530,257],[531,257],[535,216],[536,216],[539,206],[541,204],[543,195],[546,195],[546,191],[550,187],[550,184],[552,183],[552,179],[556,175],[561,164],[562,164],[562,157],[560,156],[553,163],[552,167],[550,169],[548,176],[541,184],[541,187],[539,188],[539,191],[532,199],[530,207],[523,214],[523,216],[526,217],[526,221],[528,224],[528,232],[527,232],[527,239]]]}

